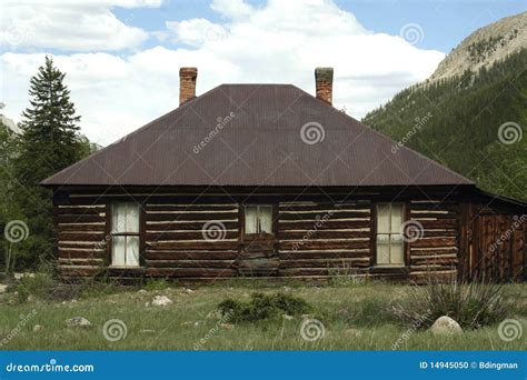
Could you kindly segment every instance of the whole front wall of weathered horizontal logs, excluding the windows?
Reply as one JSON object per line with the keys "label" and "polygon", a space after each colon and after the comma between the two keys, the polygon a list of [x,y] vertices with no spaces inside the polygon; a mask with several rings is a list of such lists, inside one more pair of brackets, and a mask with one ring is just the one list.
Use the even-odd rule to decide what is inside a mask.
{"label": "whole front wall of weathered horizontal logs, excluding the windows", "polygon": [[[239,203],[248,192],[209,193],[195,202],[190,192],[148,196],[142,202],[142,256],[139,269],[113,270],[116,276],[171,277],[212,282],[237,277],[240,259]],[[178,197],[176,197],[178,194]],[[342,192],[345,194],[345,192]],[[338,199],[338,193],[331,193]],[[241,199],[240,197],[245,197]],[[295,198],[298,198],[296,200]],[[375,204],[365,199],[331,202],[307,194],[259,192],[259,202],[278,204],[277,277],[320,280],[334,276],[379,277],[422,282],[428,272],[456,273],[459,256],[459,204],[454,201],[407,201],[407,213],[422,236],[407,246],[407,266],[375,268]],[[93,276],[109,264],[109,204],[130,200],[123,194],[74,193],[56,207],[59,264],[63,276]],[[384,200],[386,201],[386,200]],[[219,236],[203,227],[221,226]],[[212,231],[212,230],[211,230]],[[216,238],[220,238],[215,241]]]}

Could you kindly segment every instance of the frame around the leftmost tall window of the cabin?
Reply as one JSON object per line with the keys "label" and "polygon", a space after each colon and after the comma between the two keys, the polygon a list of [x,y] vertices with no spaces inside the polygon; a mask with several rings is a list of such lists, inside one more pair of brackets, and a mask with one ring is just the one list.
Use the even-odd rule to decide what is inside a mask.
{"label": "frame around the leftmost tall window of the cabin", "polygon": [[[116,204],[119,204],[119,203],[128,203],[128,204],[133,204],[137,207],[137,212],[138,212],[138,231],[137,232],[129,232],[129,231],[123,231],[123,232],[113,232],[113,210],[115,210],[115,207]],[[143,208],[142,208],[142,204],[141,203],[138,203],[136,201],[132,201],[132,200],[122,200],[122,201],[115,201],[115,202],[111,202],[108,204],[107,207],[107,210],[108,210],[108,213],[107,213],[107,236],[110,237],[110,239],[108,240],[107,242],[107,254],[108,254],[108,267],[109,268],[112,268],[112,269],[123,269],[123,270],[133,270],[133,269],[138,269],[138,268],[143,268],[145,267],[145,263],[143,263],[143,257],[142,257],[142,252],[143,252],[143,243],[145,243],[145,238],[143,238]],[[138,263],[137,266],[130,266],[130,264],[126,264],[125,266],[118,266],[118,264],[113,264],[113,237],[125,237],[125,261],[126,261],[126,258],[127,258],[127,251],[126,251],[126,241],[127,241],[127,237],[137,237],[138,238]]]}

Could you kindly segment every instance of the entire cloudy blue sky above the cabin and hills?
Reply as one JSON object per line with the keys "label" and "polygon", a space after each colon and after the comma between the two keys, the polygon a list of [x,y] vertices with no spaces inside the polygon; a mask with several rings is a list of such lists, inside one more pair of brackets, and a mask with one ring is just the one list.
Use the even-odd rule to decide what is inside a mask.
{"label": "entire cloudy blue sky above the cabin and hills", "polygon": [[334,106],[357,119],[426,80],[477,28],[524,1],[8,0],[1,100],[20,120],[30,78],[52,54],[81,129],[107,144],[178,107],[179,68],[197,93],[221,83],[291,83],[314,93],[335,68]]}

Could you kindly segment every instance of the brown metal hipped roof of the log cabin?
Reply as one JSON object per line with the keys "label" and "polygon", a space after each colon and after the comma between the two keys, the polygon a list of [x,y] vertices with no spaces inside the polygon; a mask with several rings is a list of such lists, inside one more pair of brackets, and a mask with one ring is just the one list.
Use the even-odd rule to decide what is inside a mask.
{"label": "brown metal hipped roof of the log cabin", "polygon": [[394,153],[394,144],[295,86],[222,84],[42,184],[473,183],[410,149]]}

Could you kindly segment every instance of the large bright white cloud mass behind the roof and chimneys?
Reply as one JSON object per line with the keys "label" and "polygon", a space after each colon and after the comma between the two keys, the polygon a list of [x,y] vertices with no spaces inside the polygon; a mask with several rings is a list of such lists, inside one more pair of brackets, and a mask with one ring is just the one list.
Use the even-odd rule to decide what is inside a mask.
{"label": "large bright white cloud mass behind the roof and chimneys", "polygon": [[[426,79],[445,56],[368,31],[329,0],[270,0],[260,7],[215,0],[211,8],[223,21],[167,22],[162,34],[169,33],[178,47],[56,58],[90,139],[109,143],[176,108],[182,66],[198,67],[198,94],[236,82],[292,83],[314,93],[315,67],[331,66],[335,107],[361,118]],[[42,62],[42,54],[2,56],[2,100],[11,118],[28,106],[29,78]]]}

